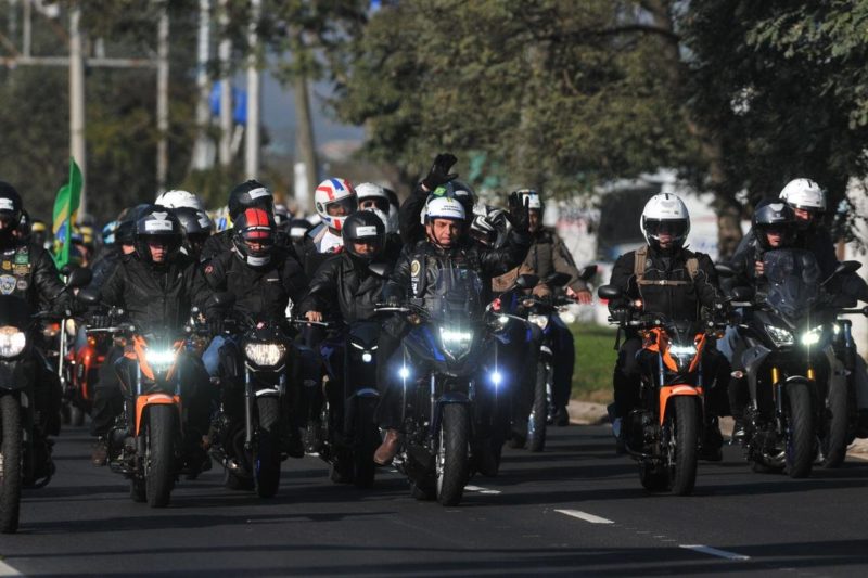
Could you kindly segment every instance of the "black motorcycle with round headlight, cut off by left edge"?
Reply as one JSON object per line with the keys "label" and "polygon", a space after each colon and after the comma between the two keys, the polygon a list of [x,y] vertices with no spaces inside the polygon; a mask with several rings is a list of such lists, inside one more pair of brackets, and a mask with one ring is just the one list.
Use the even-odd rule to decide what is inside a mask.
{"label": "black motorcycle with round headlight, cut off by left edge", "polygon": [[[79,271],[69,275],[65,291],[90,283],[90,271]],[[36,364],[43,362],[34,344],[35,320],[52,317],[34,316],[27,301],[20,297],[0,296],[0,532],[3,534],[18,529],[22,488],[42,487],[51,479],[51,475],[41,481],[35,479],[40,457],[35,447],[37,416],[33,403]]]}

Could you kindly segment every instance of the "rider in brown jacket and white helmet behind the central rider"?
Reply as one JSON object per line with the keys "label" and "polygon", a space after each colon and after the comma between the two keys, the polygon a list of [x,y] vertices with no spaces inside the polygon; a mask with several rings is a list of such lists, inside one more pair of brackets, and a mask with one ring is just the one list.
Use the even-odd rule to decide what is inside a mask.
{"label": "rider in brown jacket and white helmet behind the central rider", "polygon": [[[539,194],[531,189],[513,191],[509,195],[510,211],[515,217],[525,210],[529,211],[531,219],[531,248],[524,259],[524,266],[529,272],[539,277],[540,282],[553,273],[566,273],[570,281],[566,285],[566,295],[582,305],[589,305],[593,299],[588,286],[578,275],[578,268],[557,231],[542,227],[545,205]],[[567,425],[570,415],[566,404],[570,401],[570,391],[573,384],[573,370],[575,367],[575,347],[573,334],[561,318],[551,317],[554,331],[552,351],[554,359],[554,374],[552,384],[552,404],[556,408],[554,425]]]}

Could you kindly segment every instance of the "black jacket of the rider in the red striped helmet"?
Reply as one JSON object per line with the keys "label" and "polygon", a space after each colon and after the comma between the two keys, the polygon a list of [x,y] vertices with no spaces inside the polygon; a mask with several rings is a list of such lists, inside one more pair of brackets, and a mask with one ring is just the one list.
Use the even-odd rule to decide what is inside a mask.
{"label": "black jacket of the rider in the red striped helmet", "polygon": [[275,247],[265,267],[251,267],[233,251],[215,256],[204,268],[208,286],[235,297],[234,309],[254,319],[283,320],[290,299],[299,303],[307,275],[283,247]]}

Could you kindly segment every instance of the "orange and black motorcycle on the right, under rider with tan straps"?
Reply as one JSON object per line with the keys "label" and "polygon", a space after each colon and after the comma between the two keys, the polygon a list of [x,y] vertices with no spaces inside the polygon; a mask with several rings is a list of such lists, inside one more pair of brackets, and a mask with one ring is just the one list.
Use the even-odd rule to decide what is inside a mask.
{"label": "orange and black motorcycle on the right, under rider with tan straps", "polygon": [[[612,285],[601,286],[598,295],[623,298],[621,288]],[[703,358],[709,337],[724,324],[641,314],[638,304],[631,311],[630,319],[609,320],[638,330],[642,338],[639,404],[621,424],[625,449],[639,462],[642,487],[688,496],[697,481],[704,423]]]}

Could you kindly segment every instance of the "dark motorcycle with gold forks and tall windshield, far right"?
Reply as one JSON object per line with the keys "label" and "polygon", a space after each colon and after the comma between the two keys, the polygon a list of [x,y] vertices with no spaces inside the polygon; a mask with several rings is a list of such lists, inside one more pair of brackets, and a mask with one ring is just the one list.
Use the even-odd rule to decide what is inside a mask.
{"label": "dark motorcycle with gold forks and tall windshield, far right", "polygon": [[824,286],[859,264],[840,264],[821,282],[809,252],[776,249],[763,259],[765,295],[732,290],[738,305],[752,311],[738,326],[748,345],[742,361],[751,398],[742,444],[754,471],[786,470],[801,478],[810,474],[818,450],[826,461],[843,460],[850,394],[833,343],[840,308]]}

